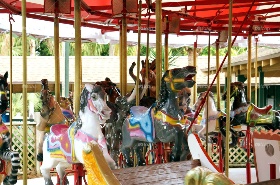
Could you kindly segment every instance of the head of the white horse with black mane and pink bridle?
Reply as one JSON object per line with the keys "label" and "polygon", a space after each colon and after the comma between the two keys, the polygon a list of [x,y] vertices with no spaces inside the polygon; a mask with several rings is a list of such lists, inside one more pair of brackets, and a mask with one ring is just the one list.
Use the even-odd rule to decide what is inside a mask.
{"label": "head of the white horse with black mane and pink bridle", "polygon": [[105,123],[110,118],[111,109],[106,104],[107,94],[100,85],[85,84],[82,90],[80,101],[81,111],[85,113],[85,108],[97,114],[99,123]]}

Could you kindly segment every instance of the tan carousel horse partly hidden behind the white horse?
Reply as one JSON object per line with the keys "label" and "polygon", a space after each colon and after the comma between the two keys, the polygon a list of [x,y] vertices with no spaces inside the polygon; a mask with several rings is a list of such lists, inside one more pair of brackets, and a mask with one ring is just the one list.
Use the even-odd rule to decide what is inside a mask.
{"label": "tan carousel horse partly hidden behind the white horse", "polygon": [[49,90],[48,80],[41,80],[41,96],[42,110],[40,113],[40,123],[36,125],[36,129],[40,131],[40,141],[38,145],[37,161],[43,161],[43,137],[50,132],[50,127],[55,124],[70,125],[66,116],[63,115],[60,106]]}

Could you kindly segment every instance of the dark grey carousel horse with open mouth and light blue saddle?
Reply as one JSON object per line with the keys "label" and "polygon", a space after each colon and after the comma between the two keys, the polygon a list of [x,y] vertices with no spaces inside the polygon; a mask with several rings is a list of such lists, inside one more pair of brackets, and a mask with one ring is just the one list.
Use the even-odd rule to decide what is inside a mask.
{"label": "dark grey carousel horse with open mouth and light blue saddle", "polygon": [[[125,166],[132,167],[129,149],[134,148],[137,163],[146,165],[141,146],[144,142],[174,142],[172,160],[183,161],[190,153],[188,148],[188,134],[185,131],[185,119],[181,114],[177,93],[185,87],[192,87],[195,81],[195,67],[183,67],[165,71],[161,80],[160,97],[158,103],[150,108],[134,106],[130,108],[130,115],[123,118],[122,137],[120,146],[125,158]],[[184,150],[182,150],[182,145]]]}

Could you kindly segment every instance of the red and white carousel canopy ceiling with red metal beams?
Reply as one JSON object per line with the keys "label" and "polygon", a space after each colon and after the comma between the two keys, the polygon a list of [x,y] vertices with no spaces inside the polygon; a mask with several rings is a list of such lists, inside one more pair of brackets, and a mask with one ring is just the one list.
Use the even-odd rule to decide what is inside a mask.
{"label": "red and white carousel canopy ceiling with red metal beams", "polygon": [[[67,0],[64,0],[65,2]],[[119,0],[113,0],[116,3]],[[128,1],[128,0],[127,0]],[[131,1],[131,2],[136,2]],[[70,1],[68,1],[70,2]],[[122,1],[120,1],[122,2]],[[141,44],[146,44],[146,32],[148,15],[150,13],[150,46],[155,46],[155,3],[148,3],[148,0],[142,1],[141,11]],[[139,1],[137,1],[139,3]],[[273,0],[255,0],[253,7],[247,15],[247,12],[252,5],[249,0],[235,0],[233,2],[233,29],[234,36],[241,25],[244,17],[247,17],[245,24],[241,28],[241,33],[235,46],[247,46],[246,36],[252,33],[253,36],[259,36],[258,46],[268,46],[272,48],[280,47],[280,1]],[[130,1],[129,1],[130,4]],[[133,4],[133,3],[131,3]],[[69,4],[70,5],[70,4]],[[15,19],[21,15],[21,1],[0,0],[0,29],[1,32],[9,30],[8,13],[13,14]],[[27,0],[27,33],[37,38],[53,37],[53,21],[54,14],[45,7],[43,0]],[[49,6],[51,7],[51,6]],[[122,5],[121,5],[122,7]],[[149,7],[149,8],[148,8]],[[114,16],[118,6],[112,6],[111,0],[91,1],[82,0],[81,3],[81,21],[82,21],[82,37],[90,39],[93,42],[107,44],[110,40],[113,43],[118,43],[119,33],[118,29],[121,25],[121,17]],[[112,9],[115,11],[113,12]],[[133,9],[133,7],[132,7]],[[134,7],[135,9],[135,7]],[[62,10],[61,10],[62,11]],[[71,8],[69,12],[62,12],[60,14],[60,39],[67,39],[74,37],[74,1],[71,1]],[[193,46],[198,35],[197,46],[204,47],[208,43],[208,31],[211,30],[211,43],[214,43],[218,38],[218,34],[222,31],[227,32],[228,28],[228,0],[163,0],[162,1],[162,18],[168,20],[169,25],[174,23],[171,29],[163,30],[163,33],[169,34],[169,46]],[[137,29],[138,29],[138,14],[127,15],[127,44],[135,45],[137,43]],[[14,34],[20,36],[22,28],[20,18],[16,18]],[[37,19],[37,20],[35,20]],[[38,21],[41,20],[41,21]],[[39,23],[41,22],[41,23]],[[50,23],[47,23],[50,22]],[[166,22],[166,21],[165,21]],[[172,23],[173,22],[173,23]],[[171,24],[172,23],[172,24]],[[163,27],[164,27],[163,22]],[[95,29],[93,29],[95,28]],[[67,31],[65,31],[67,30]],[[272,38],[269,38],[273,36]],[[164,35],[162,36],[162,38]],[[227,43],[221,44],[221,47],[226,47]]]}

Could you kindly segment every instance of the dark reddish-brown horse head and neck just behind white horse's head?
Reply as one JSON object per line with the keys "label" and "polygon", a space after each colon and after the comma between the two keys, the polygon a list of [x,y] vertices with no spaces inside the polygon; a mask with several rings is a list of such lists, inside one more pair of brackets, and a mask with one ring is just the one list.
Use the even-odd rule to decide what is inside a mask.
{"label": "dark reddish-brown horse head and neck just behind white horse's head", "polygon": [[105,90],[108,96],[108,101],[115,103],[116,98],[120,96],[120,89],[110,78],[105,78],[105,81],[95,82],[96,85],[100,85]]}

